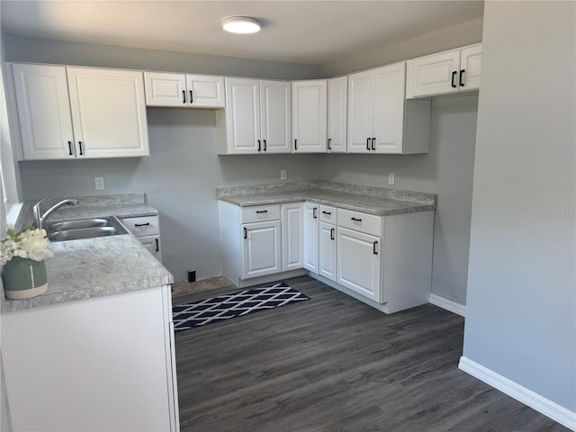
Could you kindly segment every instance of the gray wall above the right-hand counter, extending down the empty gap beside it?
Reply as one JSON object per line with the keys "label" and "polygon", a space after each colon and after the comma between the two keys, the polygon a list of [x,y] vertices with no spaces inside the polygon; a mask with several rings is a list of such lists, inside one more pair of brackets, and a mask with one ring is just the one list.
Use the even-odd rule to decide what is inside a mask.
{"label": "gray wall above the right-hand counter, extending down the empty gap beside it", "polygon": [[[465,304],[478,94],[434,98],[426,155],[329,155],[324,180],[437,193],[432,292]],[[388,185],[388,173],[396,178]]]}

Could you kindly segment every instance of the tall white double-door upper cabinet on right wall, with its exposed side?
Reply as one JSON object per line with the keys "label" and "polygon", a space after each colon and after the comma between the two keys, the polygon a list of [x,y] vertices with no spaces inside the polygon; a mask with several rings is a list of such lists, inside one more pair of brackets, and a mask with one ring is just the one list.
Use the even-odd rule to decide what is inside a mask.
{"label": "tall white double-door upper cabinet on right wall, with its exposed side", "polygon": [[348,153],[427,153],[430,102],[406,101],[406,63],[348,76]]}

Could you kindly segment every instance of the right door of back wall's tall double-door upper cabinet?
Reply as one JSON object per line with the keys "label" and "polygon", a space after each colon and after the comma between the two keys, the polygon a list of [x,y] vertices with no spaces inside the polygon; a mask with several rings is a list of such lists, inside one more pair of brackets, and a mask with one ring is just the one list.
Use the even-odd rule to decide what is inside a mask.
{"label": "right door of back wall's tall double-door upper cabinet", "polygon": [[290,83],[260,81],[262,151],[290,153],[291,104]]}

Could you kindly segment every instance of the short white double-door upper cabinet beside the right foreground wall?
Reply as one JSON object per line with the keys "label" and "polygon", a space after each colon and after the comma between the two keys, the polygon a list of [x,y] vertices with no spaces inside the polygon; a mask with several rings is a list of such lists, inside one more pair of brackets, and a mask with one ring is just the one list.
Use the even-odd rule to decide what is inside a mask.
{"label": "short white double-door upper cabinet beside the right foreground wall", "polygon": [[407,64],[409,99],[474,90],[480,87],[482,44],[413,58]]}

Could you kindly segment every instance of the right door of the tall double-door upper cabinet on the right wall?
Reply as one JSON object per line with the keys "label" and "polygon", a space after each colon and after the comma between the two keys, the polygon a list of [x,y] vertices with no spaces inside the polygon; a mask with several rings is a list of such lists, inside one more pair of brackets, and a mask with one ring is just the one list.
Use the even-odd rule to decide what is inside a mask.
{"label": "right door of the tall double-door upper cabinet on the right wall", "polygon": [[374,69],[374,141],[376,153],[401,153],[404,134],[406,62]]}

